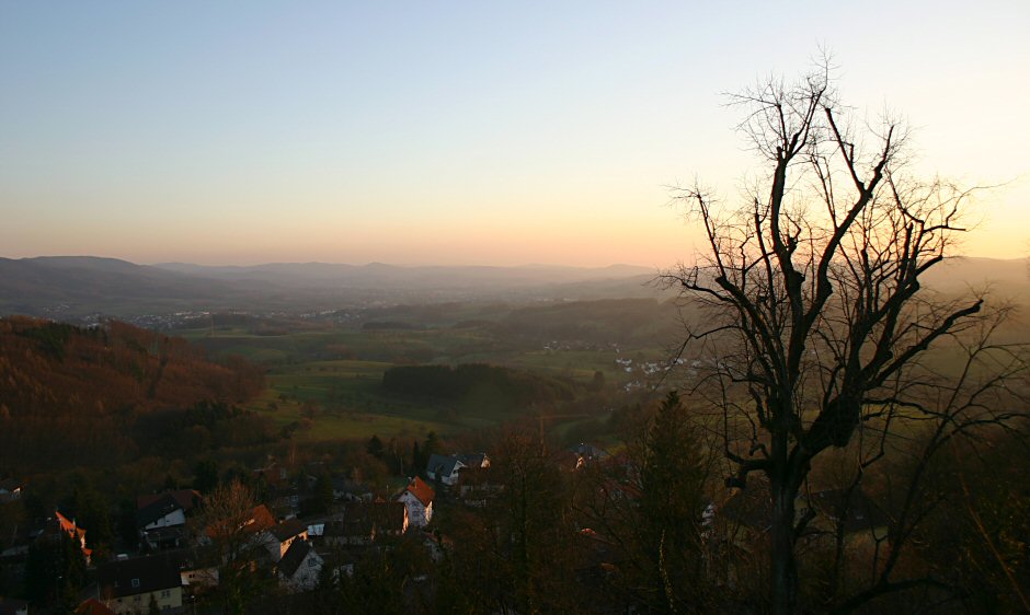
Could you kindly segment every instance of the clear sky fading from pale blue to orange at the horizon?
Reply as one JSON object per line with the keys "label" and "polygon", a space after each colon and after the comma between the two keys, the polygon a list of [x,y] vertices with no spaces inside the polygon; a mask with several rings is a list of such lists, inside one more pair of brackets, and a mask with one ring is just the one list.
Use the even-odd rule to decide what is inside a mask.
{"label": "clear sky fading from pale blue to orange at the horizon", "polygon": [[0,256],[690,260],[670,186],[760,167],[736,92],[843,97],[1030,254],[1030,2],[0,0]]}

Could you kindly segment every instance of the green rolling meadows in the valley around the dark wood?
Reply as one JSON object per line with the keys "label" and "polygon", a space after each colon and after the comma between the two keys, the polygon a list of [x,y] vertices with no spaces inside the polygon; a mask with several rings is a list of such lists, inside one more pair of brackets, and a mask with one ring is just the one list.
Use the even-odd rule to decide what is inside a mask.
{"label": "green rolling meadows in the valley around the dark wood", "polygon": [[[455,320],[477,315],[482,316],[460,313]],[[293,437],[302,441],[367,439],[373,434],[420,438],[431,430],[451,436],[518,417],[517,411],[500,409],[505,404],[491,398],[490,393],[443,402],[385,391],[382,374],[398,364],[491,363],[583,384],[602,372],[616,394],[625,383],[641,378],[627,373],[616,363],[617,358],[639,364],[666,357],[655,345],[627,349],[620,344],[617,349],[613,344],[586,343],[571,335],[562,343],[543,341],[553,332],[534,335],[533,324],[513,333],[490,321],[437,322],[438,314],[432,321],[413,320],[402,320],[405,327],[371,330],[324,321],[216,321],[214,329],[208,326],[178,334],[213,359],[240,356],[264,365],[267,387],[248,404],[249,409],[268,417],[277,427],[293,429]],[[586,321],[576,321],[576,326],[582,322]],[[594,326],[594,330],[604,328]],[[566,425],[552,427],[560,433],[570,429]]]}

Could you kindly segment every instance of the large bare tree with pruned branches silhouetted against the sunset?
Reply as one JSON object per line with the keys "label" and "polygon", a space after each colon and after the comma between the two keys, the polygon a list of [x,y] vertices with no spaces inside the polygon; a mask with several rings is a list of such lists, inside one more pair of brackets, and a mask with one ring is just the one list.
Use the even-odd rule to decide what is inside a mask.
{"label": "large bare tree with pruned branches silhouetted against the sunset", "polygon": [[[951,414],[927,405],[931,392],[942,401],[941,383],[950,382],[923,364],[927,352],[955,335],[993,330],[981,327],[982,297],[946,300],[920,283],[952,255],[972,192],[907,174],[900,123],[856,128],[828,62],[798,83],[769,80],[732,102],[746,109],[740,128],[768,175],[741,207],[699,186],[678,190],[707,245],[697,265],[663,280],[703,309],[684,345],[705,356],[695,404],[717,410],[733,467],[728,485],[743,488],[755,472],[768,480],[771,601],[776,613],[796,613],[796,550],[814,514],[799,514],[796,500],[824,452],[866,429],[885,450],[902,411],[936,417],[938,440],[1010,415],[965,425],[965,410],[982,409],[976,402],[945,404]],[[988,346],[976,346],[977,360],[989,356],[976,369],[1017,371],[1014,353]],[[879,459],[867,452],[862,463]],[[893,589],[889,572],[877,581],[876,592]]]}

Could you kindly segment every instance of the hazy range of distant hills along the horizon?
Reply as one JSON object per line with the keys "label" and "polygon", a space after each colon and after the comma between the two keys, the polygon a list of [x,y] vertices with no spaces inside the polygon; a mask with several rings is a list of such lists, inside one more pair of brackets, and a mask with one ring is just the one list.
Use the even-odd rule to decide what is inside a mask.
{"label": "hazy range of distant hills along the horizon", "polygon": [[[130,317],[181,311],[335,310],[449,301],[603,300],[668,297],[646,267],[402,267],[382,263],[270,263],[214,267],[147,266],[92,256],[0,258],[0,315],[73,321],[89,314]],[[1030,298],[1023,259],[955,258],[929,271],[946,292],[992,285]]]}

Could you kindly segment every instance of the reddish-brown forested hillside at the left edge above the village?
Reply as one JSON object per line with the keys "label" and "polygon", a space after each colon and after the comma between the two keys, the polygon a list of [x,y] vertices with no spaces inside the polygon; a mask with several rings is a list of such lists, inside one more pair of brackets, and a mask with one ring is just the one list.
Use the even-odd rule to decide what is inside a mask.
{"label": "reddish-brown forested hillside at the left edge above the village", "polygon": [[0,467],[130,459],[141,417],[231,407],[263,380],[242,360],[216,364],[183,339],[124,323],[0,318]]}

